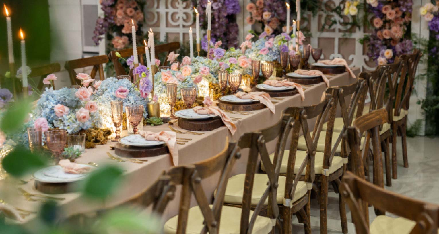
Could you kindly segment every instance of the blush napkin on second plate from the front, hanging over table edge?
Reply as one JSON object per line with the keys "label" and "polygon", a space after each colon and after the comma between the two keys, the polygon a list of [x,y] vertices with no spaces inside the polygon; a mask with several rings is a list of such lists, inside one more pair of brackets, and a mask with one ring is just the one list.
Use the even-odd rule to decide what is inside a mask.
{"label": "blush napkin on second plate from the front, hanging over table edge", "polygon": [[169,154],[172,158],[174,166],[178,166],[178,148],[177,148],[177,135],[173,131],[139,131],[139,134],[148,141],[161,141],[165,142],[169,149]]}

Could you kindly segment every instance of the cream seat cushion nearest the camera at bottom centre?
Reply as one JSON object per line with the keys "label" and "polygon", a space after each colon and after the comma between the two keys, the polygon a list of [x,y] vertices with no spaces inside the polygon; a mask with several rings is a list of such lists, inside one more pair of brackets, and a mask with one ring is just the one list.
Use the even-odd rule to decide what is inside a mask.
{"label": "cream seat cushion nearest the camera at bottom centre", "polygon": [[[211,206],[212,207],[212,206]],[[253,211],[250,211],[250,217]],[[177,232],[178,215],[166,221],[163,232],[165,234],[175,234]],[[187,218],[187,234],[199,234],[204,227],[204,217],[199,206],[189,209]],[[241,226],[241,208],[233,206],[223,206],[219,222],[219,234],[239,234]],[[272,228],[271,220],[268,217],[258,216],[253,226],[253,234],[268,234]]]}

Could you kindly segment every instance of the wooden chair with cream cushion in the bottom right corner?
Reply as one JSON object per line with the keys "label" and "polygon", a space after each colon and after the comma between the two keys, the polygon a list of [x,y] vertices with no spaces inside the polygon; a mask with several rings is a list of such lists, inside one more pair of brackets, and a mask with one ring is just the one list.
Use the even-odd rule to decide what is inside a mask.
{"label": "wooden chair with cream cushion in the bottom right corner", "polygon": [[[439,206],[387,191],[347,172],[341,193],[352,212],[357,234],[437,234]],[[377,216],[370,224],[367,203],[399,216]]]}

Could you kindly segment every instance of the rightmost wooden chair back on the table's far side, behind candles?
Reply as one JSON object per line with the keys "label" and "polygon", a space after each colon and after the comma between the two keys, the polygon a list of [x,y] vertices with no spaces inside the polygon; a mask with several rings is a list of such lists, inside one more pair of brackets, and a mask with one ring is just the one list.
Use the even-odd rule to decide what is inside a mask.
{"label": "rightmost wooden chair back on the table's far side, behind candles", "polygon": [[[156,45],[154,47],[155,50],[155,58],[158,58],[158,55],[161,53],[166,53],[165,60],[162,62],[162,66],[166,66],[168,63],[167,57],[171,51],[175,51],[180,49],[180,42],[171,42],[166,44]],[[108,58],[112,60],[114,64],[114,68],[116,71],[116,75],[126,75],[126,71],[120,63],[119,57],[116,56],[116,52],[119,52],[120,57],[127,58],[133,55],[133,48],[123,49],[123,50],[113,50],[108,54]],[[142,65],[146,65],[145,59],[145,46],[137,46],[137,57],[139,58],[139,63]]]}

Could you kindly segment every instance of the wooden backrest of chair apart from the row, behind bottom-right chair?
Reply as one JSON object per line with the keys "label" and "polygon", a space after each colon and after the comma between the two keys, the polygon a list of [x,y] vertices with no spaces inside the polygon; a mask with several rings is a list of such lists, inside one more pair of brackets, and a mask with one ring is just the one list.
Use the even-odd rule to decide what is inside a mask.
{"label": "wooden backrest of chair apart from the row, behind bottom-right chair", "polygon": [[[369,150],[372,149],[375,158],[381,158],[381,144],[379,127],[388,123],[388,112],[385,109],[373,110],[355,119],[353,126],[347,129],[344,135],[352,157],[352,171],[360,178],[365,179],[364,160],[369,156]],[[363,148],[361,148],[361,138],[365,134]],[[374,163],[379,164],[378,160]],[[382,165],[374,165],[382,167]],[[374,174],[374,181],[382,181],[382,174]],[[381,184],[381,182],[379,182]],[[367,212],[367,205],[364,212]],[[367,216],[368,218],[369,216]]]}

